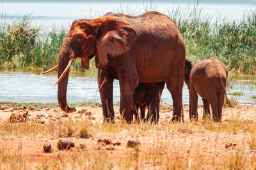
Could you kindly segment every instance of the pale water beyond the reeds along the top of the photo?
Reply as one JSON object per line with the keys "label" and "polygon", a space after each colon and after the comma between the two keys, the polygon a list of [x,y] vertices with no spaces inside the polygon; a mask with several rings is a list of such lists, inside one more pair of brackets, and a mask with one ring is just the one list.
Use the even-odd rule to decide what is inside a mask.
{"label": "pale water beyond the reeds along the top of the photo", "polygon": [[[0,4],[0,15],[3,22],[12,22],[24,15],[31,14],[33,24],[41,25],[45,30],[52,27],[70,26],[79,18],[96,18],[109,11],[123,12],[129,15],[139,15],[145,11],[155,10],[161,13],[171,13],[177,8],[186,14],[188,8],[195,8],[197,1],[186,0],[158,0],[158,1],[15,1],[3,0]],[[211,16],[213,19],[227,18],[228,20],[241,20],[243,14],[255,8],[255,0],[230,1],[216,0],[198,1],[198,10],[202,16]],[[188,7],[189,6],[189,7]]]}

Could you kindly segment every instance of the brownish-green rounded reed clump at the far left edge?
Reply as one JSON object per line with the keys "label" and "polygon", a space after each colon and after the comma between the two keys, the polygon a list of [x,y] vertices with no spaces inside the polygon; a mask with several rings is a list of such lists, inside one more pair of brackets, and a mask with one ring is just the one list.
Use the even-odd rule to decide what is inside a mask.
{"label": "brownish-green rounded reed clump at the far left edge", "polygon": [[30,25],[29,16],[19,22],[13,22],[1,28],[0,60],[1,65],[8,69],[32,64],[36,51],[36,41],[40,27]]}

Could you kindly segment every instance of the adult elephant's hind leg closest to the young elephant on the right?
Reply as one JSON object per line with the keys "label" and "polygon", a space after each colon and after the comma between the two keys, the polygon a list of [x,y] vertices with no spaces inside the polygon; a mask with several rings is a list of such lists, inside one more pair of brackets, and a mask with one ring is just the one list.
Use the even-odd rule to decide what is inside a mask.
{"label": "adult elephant's hind leg closest to the young elephant on the right", "polygon": [[[177,67],[173,67],[172,77],[166,82],[166,87],[172,94],[173,99],[173,117],[172,121],[184,122],[183,108],[182,108],[182,89],[184,83],[184,64],[177,64]],[[180,70],[182,69],[182,70]],[[182,73],[182,75],[181,75]]]}

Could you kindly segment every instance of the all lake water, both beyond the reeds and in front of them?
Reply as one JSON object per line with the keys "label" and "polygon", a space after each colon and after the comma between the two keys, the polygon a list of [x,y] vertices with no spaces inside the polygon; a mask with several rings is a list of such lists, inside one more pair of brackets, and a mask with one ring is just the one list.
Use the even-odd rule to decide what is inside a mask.
{"label": "all lake water, both beyond the reeds and in front of them", "polygon": [[[109,11],[123,12],[129,15],[139,15],[144,11],[155,10],[165,14],[171,13],[177,8],[182,13],[188,13],[188,9],[195,8],[196,0],[167,1],[15,1],[3,0],[0,3],[1,22],[13,22],[17,18],[31,14],[34,25],[41,25],[44,30],[52,27],[70,26],[79,18],[96,18]],[[242,20],[243,14],[255,8],[255,0],[216,0],[198,1],[197,9],[201,10],[202,16],[211,16],[213,19]],[[43,75],[41,73],[23,73],[0,71],[0,101],[12,101],[17,103],[57,103],[57,86],[54,83],[57,76],[54,74]],[[230,81],[232,89],[229,92],[243,92],[243,97],[238,101],[252,103],[250,96],[255,94],[255,79],[234,78]],[[172,103],[170,92],[165,88],[161,97],[162,103]],[[92,101],[100,103],[97,77],[95,76],[70,76],[67,92],[68,103]],[[120,101],[118,81],[114,82],[114,103]],[[188,88],[183,90],[183,103],[188,104]],[[253,103],[255,104],[255,103]]]}

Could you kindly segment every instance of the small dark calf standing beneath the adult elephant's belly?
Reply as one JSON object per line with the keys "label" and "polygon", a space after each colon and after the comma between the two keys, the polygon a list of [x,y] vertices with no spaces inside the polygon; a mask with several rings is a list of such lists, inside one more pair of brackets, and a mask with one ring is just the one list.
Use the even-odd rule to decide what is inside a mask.
{"label": "small dark calf standing beneath the adult elephant's belly", "polygon": [[145,120],[158,122],[159,120],[159,103],[164,89],[164,82],[161,83],[139,83],[134,90],[132,105],[132,115],[140,122],[138,118],[138,108],[140,108],[141,121],[145,118],[145,110],[148,107],[148,114]]}

